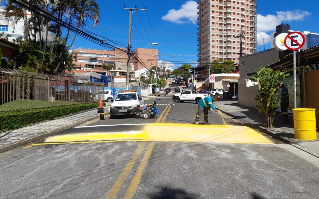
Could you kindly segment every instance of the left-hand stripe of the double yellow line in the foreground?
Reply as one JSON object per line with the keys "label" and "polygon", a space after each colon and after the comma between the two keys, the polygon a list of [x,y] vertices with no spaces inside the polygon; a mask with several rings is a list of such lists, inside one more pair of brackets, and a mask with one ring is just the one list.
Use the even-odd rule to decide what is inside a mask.
{"label": "left-hand stripe of the double yellow line in the foreground", "polygon": [[127,176],[129,175],[130,171],[135,165],[135,162],[139,155],[142,153],[143,149],[145,147],[145,142],[142,142],[140,146],[138,146],[136,152],[134,153],[133,157],[129,161],[129,163],[124,167],[122,173],[119,175],[119,177],[116,179],[113,187],[108,192],[108,195],[106,195],[105,198],[115,198],[115,196],[120,191],[123,182],[126,180]]}

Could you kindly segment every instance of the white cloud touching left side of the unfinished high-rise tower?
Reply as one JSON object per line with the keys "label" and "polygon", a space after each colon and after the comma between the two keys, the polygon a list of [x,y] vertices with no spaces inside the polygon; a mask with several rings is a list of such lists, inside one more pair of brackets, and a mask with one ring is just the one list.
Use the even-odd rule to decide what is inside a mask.
{"label": "white cloud touching left side of the unfinished high-rise tower", "polygon": [[169,10],[161,19],[174,22],[176,24],[193,23],[197,24],[197,2],[187,1],[181,5],[179,10]]}

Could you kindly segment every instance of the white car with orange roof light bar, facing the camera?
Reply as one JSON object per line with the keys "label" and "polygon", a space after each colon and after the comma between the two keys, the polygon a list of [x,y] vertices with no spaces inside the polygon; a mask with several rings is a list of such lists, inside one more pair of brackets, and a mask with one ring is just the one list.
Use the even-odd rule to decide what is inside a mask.
{"label": "white car with orange roof light bar, facing the camera", "polygon": [[138,105],[140,104],[144,104],[144,99],[136,90],[120,91],[110,106],[110,115],[111,117],[118,115],[135,115],[138,111]]}

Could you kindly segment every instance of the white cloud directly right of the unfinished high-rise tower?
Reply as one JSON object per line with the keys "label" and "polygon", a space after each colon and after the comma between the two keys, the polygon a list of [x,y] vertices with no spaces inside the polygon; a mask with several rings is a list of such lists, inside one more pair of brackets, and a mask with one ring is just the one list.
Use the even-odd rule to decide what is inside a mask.
{"label": "white cloud directly right of the unfinished high-rise tower", "polygon": [[266,15],[257,14],[257,44],[263,45],[271,42],[271,35],[266,32],[275,31],[276,26],[280,25],[284,21],[302,21],[305,17],[310,15],[310,12],[302,10],[294,11],[278,11],[277,15]]}

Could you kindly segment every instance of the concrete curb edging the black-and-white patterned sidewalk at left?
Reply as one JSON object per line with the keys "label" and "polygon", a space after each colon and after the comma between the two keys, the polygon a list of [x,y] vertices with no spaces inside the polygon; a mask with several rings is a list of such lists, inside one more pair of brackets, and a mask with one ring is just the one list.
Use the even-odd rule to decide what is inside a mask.
{"label": "concrete curb edging the black-and-white patterned sidewalk at left", "polygon": [[[107,108],[108,106],[105,106],[104,108]],[[73,114],[74,115],[74,114]],[[65,116],[64,116],[65,117]],[[91,121],[93,119],[96,119],[96,118],[99,118],[100,115],[97,113],[96,116],[92,116],[92,117],[89,117],[89,118],[86,118],[84,120],[81,120],[81,121],[78,121],[78,122],[75,122],[73,124],[70,124],[70,125],[66,125],[66,126],[63,126],[63,127],[60,127],[60,128],[57,128],[53,131],[44,131],[44,132],[41,132],[39,133],[38,135],[36,136],[33,136],[33,137],[29,137],[29,138],[26,138],[26,139],[23,139],[23,140],[19,140],[19,141],[16,141],[16,142],[12,142],[10,144],[6,144],[4,146],[1,146],[0,147],[0,153],[3,153],[5,151],[9,151],[11,149],[14,149],[14,148],[17,148],[19,146],[23,146],[23,145],[26,145],[26,144],[29,144],[31,142],[35,142],[35,141],[38,141],[40,139],[43,139],[43,138],[46,138],[50,135],[53,135],[53,134],[56,134],[60,131],[63,131],[63,130],[66,130],[66,129],[69,129],[69,128],[72,128],[74,126],[78,126],[80,124],[83,124],[85,122],[88,122],[88,121]]]}

